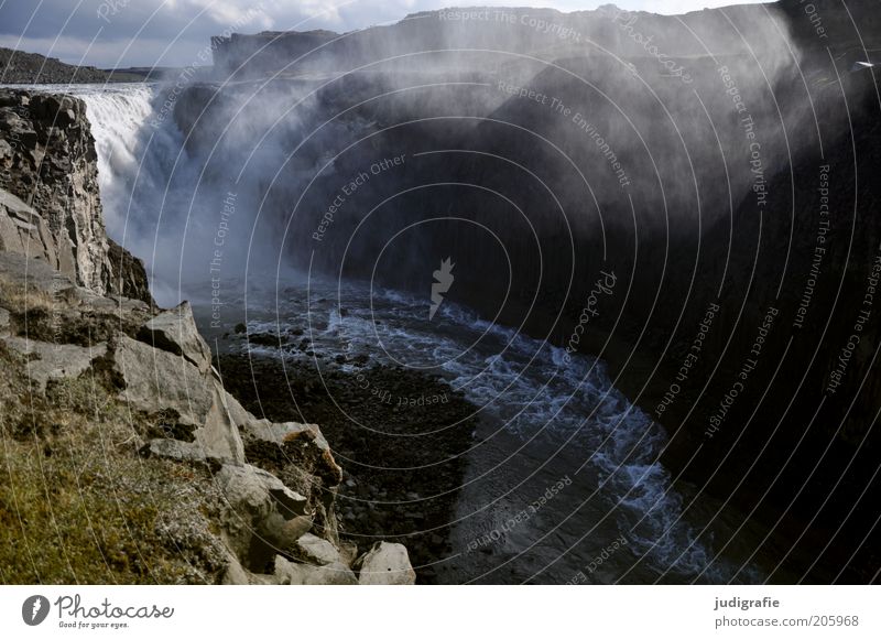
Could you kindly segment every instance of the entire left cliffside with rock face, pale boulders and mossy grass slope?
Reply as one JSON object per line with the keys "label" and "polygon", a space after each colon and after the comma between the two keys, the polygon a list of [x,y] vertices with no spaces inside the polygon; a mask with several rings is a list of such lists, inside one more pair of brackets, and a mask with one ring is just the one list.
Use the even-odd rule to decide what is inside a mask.
{"label": "entire left cliffside with rock face, pale boulders and mossy grass slope", "polygon": [[0,105],[1,581],[414,583],[403,545],[339,540],[318,426],[246,411],[107,240],[81,102]]}

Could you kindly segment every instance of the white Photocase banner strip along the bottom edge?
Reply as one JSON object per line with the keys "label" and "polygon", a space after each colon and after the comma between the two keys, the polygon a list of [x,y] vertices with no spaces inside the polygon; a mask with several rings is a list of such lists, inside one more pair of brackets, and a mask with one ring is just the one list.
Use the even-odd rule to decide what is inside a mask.
{"label": "white Photocase banner strip along the bottom edge", "polygon": [[0,636],[856,639],[881,637],[879,604],[871,586],[0,586]]}

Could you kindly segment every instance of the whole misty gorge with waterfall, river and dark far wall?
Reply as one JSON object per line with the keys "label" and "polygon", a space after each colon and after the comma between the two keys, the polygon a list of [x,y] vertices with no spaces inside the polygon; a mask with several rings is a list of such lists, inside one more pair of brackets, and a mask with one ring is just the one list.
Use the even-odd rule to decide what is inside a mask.
{"label": "whole misty gorge with waterfall, river and dark far wall", "polygon": [[[881,24],[811,7],[216,37],[209,82],[28,98],[63,129],[85,105],[94,156],[40,140],[85,159],[73,216],[52,171],[0,187],[74,283],[189,301],[246,438],[320,425],[339,553],[403,543],[427,583],[871,583]],[[286,481],[273,437],[249,459]]]}

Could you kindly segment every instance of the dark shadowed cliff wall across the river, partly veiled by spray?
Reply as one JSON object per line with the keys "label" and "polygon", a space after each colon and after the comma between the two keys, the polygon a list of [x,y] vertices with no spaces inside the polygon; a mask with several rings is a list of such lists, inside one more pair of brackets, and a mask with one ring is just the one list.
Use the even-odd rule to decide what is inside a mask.
{"label": "dark shadowed cliff wall across the river, partly veiled by spray", "polygon": [[[272,140],[250,170],[292,263],[416,291],[452,257],[452,301],[608,361],[675,476],[835,554],[878,516],[881,78],[855,46],[881,25],[813,8],[531,11],[592,44],[438,13],[241,36],[220,68],[284,73],[192,88],[175,118],[233,171]],[[444,47],[470,51],[424,54]],[[860,552],[844,578],[872,576]]]}

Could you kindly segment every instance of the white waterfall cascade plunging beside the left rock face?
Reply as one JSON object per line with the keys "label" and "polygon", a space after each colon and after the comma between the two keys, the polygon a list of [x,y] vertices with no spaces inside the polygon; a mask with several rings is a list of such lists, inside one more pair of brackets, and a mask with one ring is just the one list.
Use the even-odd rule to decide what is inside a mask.
{"label": "white waterfall cascade plunging beside the left rock face", "polygon": [[204,237],[214,232],[208,227],[215,221],[206,218],[216,203],[206,202],[198,188],[197,163],[184,151],[172,113],[156,116],[161,87],[79,85],[67,90],[86,102],[108,234],[144,260],[156,301],[177,304],[187,296],[183,288],[194,275],[193,264],[209,260],[210,241]]}

